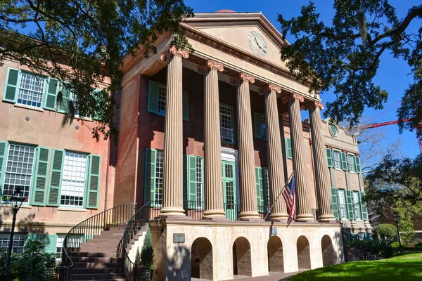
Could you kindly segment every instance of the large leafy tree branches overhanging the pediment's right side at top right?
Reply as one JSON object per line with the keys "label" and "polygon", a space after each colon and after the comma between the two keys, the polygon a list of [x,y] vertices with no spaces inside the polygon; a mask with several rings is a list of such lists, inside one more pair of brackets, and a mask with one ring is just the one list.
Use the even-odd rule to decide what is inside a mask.
{"label": "large leafy tree branches overhanging the pediment's right side at top right", "polygon": [[[390,53],[406,60],[414,76],[397,110],[399,129],[414,129],[422,122],[422,27],[409,31],[411,22],[422,19],[422,5],[409,7],[399,19],[388,0],[336,0],[331,25],[326,25],[314,4],[302,6],[301,15],[285,20],[281,32],[295,42],[281,49],[281,60],[298,78],[310,82],[310,91],[333,88],[336,99],[326,103],[326,117],[349,119],[357,124],[365,107],[383,108],[388,92],[373,82],[381,57]],[[357,98],[359,96],[359,98]]]}

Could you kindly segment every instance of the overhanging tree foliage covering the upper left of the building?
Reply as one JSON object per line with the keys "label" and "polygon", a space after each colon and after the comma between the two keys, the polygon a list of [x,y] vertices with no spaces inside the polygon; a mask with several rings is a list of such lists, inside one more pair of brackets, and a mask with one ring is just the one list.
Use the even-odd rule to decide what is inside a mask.
{"label": "overhanging tree foliage covering the upper left of the building", "polygon": [[[96,116],[98,140],[117,141],[110,93],[120,86],[124,55],[156,51],[163,32],[174,32],[173,44],[190,48],[179,22],[192,15],[183,0],[0,0],[0,63],[15,60],[46,74],[75,93],[63,125],[80,116]],[[103,91],[98,83],[110,77]],[[59,93],[58,103],[62,103]],[[83,120],[82,120],[83,122]]]}

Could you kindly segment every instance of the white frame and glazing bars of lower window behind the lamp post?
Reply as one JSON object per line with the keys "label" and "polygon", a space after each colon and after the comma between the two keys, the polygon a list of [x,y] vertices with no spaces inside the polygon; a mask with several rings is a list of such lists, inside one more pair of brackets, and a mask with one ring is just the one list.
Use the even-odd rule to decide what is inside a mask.
{"label": "white frame and glazing bars of lower window behind the lamp post", "polygon": [[[8,162],[9,162],[9,157],[11,157],[11,148],[12,148],[12,145],[15,145],[15,146],[23,146],[23,147],[26,147],[26,148],[32,148],[34,150],[34,156],[32,158],[32,170],[31,170],[31,174],[24,174],[24,173],[18,173],[18,172],[8,171]],[[25,155],[24,155],[24,157],[25,157]],[[20,157],[18,157],[18,158],[20,158]],[[7,199],[6,200],[3,200],[3,199],[5,197],[5,195],[4,195],[4,187],[6,185],[6,178],[7,178],[7,175],[8,174],[15,175],[15,178],[14,178],[15,181],[18,181],[18,178],[16,176],[30,176],[30,183],[29,184],[25,184],[25,186],[28,186],[28,190],[25,190],[25,189],[22,190],[24,192],[24,197],[25,197],[25,192],[27,192],[27,197],[25,197],[25,202],[26,203],[27,202],[30,202],[32,181],[34,181],[34,169],[35,169],[35,164],[36,164],[35,163],[36,162],[35,159],[37,159],[37,149],[33,145],[26,145],[26,144],[23,144],[23,143],[9,143],[8,144],[6,167],[5,167],[4,176],[3,176],[3,178],[4,178],[3,179],[3,185],[2,185],[2,188],[3,189],[1,190],[1,194],[2,194],[2,196],[1,196],[1,202],[7,202]],[[14,158],[13,158],[13,160],[14,160]],[[15,161],[13,161],[13,162],[15,162]],[[19,161],[18,161],[18,163],[19,163]],[[23,164],[29,165],[30,162],[23,163]],[[11,168],[13,168],[13,166]],[[19,181],[22,181],[22,177],[19,179]],[[23,186],[22,183],[20,183],[20,184],[14,184],[14,185],[15,185],[15,187],[13,188],[14,190],[15,190],[16,186],[21,186],[21,187]],[[10,197],[11,197],[11,195],[10,195]]]}

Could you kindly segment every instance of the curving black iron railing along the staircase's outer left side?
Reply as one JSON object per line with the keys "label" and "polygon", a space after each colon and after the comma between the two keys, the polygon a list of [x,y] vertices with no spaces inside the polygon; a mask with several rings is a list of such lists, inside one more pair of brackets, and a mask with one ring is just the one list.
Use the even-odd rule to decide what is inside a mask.
{"label": "curving black iron railing along the staircase's outer left side", "polygon": [[72,280],[73,261],[70,254],[75,251],[75,248],[79,248],[79,245],[87,242],[87,239],[101,235],[104,230],[126,224],[135,213],[137,206],[136,203],[121,204],[91,216],[74,226],[63,241],[62,260],[60,266],[56,268],[56,280]]}

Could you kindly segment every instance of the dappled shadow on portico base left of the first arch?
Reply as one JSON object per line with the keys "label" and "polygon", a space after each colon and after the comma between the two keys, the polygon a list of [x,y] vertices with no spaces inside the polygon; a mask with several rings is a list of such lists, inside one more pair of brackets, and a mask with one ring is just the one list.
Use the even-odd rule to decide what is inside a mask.
{"label": "dappled shadow on portico base left of the first arch", "polygon": [[191,280],[191,251],[183,246],[176,244],[172,251],[172,259],[166,259],[167,280]]}

